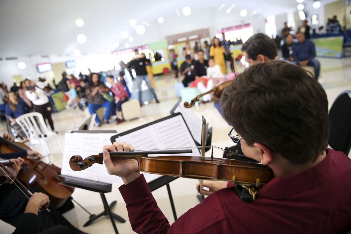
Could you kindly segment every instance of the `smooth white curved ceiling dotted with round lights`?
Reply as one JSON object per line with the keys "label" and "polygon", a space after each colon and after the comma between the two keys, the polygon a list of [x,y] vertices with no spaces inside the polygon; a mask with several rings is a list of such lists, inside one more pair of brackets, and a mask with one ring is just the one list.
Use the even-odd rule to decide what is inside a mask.
{"label": "smooth white curved ceiling dotted with round lights", "polygon": [[[225,7],[218,12],[222,3]],[[236,7],[226,14],[233,3]],[[175,9],[181,13],[185,6],[192,9],[191,16],[178,17]],[[72,54],[77,48],[82,53],[109,52],[111,43],[127,42],[120,37],[123,30],[133,36],[131,46],[137,46],[144,41],[201,29],[196,22],[205,21],[211,27],[223,16],[231,17],[231,21],[250,20],[249,14],[244,18],[239,15],[241,9],[251,13],[261,8],[258,14],[266,16],[296,6],[296,0],[0,0],[0,57]],[[163,24],[157,22],[160,16],[165,19]],[[77,18],[84,20],[83,27],[75,26]],[[137,35],[128,25],[132,18],[138,24],[147,21],[152,28],[146,27],[144,35]],[[81,33],[87,37],[85,44],[76,40]]]}

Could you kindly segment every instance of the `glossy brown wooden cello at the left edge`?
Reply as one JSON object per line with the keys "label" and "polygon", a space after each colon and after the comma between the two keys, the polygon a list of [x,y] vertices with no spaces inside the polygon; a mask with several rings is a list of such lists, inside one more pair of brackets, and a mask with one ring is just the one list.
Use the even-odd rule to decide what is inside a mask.
{"label": "glossy brown wooden cello at the left edge", "polygon": [[[28,146],[19,142],[11,142],[0,137],[0,152],[13,153],[18,151],[31,150]],[[40,159],[25,160],[20,172],[17,175],[27,186],[40,188],[49,196],[50,202],[56,207],[61,207],[72,195],[74,188],[60,185],[63,179],[59,177],[61,168],[47,164]]]}

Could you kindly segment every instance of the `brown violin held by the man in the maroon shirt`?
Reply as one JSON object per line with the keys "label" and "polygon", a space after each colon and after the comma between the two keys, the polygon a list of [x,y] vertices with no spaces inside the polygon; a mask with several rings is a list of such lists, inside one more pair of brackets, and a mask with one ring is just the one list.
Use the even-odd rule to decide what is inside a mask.
{"label": "brown violin held by the man in the maroon shirt", "polygon": [[[199,180],[232,181],[235,185],[259,187],[273,178],[273,172],[268,166],[251,160],[244,160],[244,155],[228,151],[233,159],[198,157],[186,155],[148,156],[148,154],[184,153],[184,150],[173,151],[120,151],[109,152],[111,159],[135,159],[141,172],[171,175],[176,177]],[[102,164],[102,153],[82,159],[74,155],[69,161],[73,171],[82,171],[95,163]]]}

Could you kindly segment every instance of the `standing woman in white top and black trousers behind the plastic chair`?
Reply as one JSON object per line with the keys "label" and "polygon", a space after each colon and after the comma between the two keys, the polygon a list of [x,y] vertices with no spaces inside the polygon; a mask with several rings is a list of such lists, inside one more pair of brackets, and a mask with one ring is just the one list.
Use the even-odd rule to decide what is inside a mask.
{"label": "standing woman in white top and black trousers behind the plastic chair", "polygon": [[35,83],[28,79],[24,82],[25,86],[27,87],[26,96],[32,101],[34,111],[39,112],[43,116],[44,120],[47,119],[52,131],[55,131],[54,122],[51,118],[51,104],[44,90],[35,86]]}

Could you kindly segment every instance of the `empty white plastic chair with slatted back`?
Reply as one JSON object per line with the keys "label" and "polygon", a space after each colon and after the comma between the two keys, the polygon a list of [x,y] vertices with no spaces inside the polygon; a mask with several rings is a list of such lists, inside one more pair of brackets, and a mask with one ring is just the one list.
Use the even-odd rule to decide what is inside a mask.
{"label": "empty white plastic chair with slatted back", "polygon": [[[37,117],[37,121],[35,117]],[[63,153],[57,133],[49,130],[45,124],[43,116],[40,113],[32,112],[21,115],[16,118],[16,122],[25,132],[29,142],[31,143],[31,147],[33,147],[33,145],[40,145],[43,154],[45,156],[50,155],[51,152],[46,141],[55,138],[58,146],[60,147],[61,153]],[[46,137],[44,137],[42,134],[46,135]]]}

